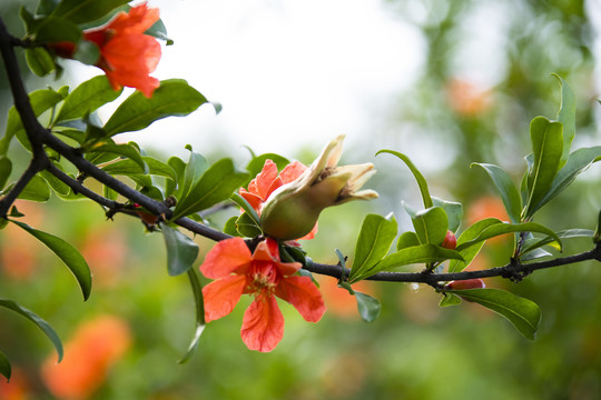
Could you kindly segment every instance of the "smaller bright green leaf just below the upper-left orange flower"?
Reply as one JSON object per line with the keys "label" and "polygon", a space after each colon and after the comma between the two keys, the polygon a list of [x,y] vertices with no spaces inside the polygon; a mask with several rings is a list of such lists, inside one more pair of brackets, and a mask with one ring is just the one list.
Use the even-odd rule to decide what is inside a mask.
{"label": "smaller bright green leaf just below the upper-left orange flower", "polygon": [[121,92],[122,89],[112,89],[106,76],[95,77],[78,86],[67,96],[55,123],[82,118],[100,106],[117,99]]}

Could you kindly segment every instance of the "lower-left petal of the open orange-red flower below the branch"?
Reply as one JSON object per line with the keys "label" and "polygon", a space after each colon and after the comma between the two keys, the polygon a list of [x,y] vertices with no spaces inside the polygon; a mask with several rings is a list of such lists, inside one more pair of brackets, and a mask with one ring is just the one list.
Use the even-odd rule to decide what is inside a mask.
{"label": "lower-left petal of the open orange-red flower below the branch", "polygon": [[205,320],[210,322],[230,313],[245,287],[245,276],[227,276],[204,287]]}

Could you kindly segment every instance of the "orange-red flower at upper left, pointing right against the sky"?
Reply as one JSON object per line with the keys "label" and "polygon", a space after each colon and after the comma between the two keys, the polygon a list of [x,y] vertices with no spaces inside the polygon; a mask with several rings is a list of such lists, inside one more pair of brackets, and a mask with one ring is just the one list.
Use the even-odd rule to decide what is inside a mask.
{"label": "orange-red flower at upper left, pointing right against the sky", "polygon": [[134,7],[128,13],[119,12],[108,24],[83,32],[83,39],[96,43],[101,68],[115,90],[121,87],[136,88],[146,97],[159,87],[159,81],[149,76],[159,62],[160,44],[144,32],[159,19],[158,9],[146,3]]}

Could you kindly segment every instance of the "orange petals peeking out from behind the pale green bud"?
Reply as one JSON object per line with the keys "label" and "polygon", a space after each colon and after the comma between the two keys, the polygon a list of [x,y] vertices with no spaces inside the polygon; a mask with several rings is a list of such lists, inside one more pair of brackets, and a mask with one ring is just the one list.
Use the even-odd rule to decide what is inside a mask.
{"label": "orange petals peeking out from behind the pale green bud", "polygon": [[[302,162],[294,161],[287,164],[278,174],[276,163],[272,160],[265,160],[263,170],[250,181],[250,183],[248,183],[248,190],[240,188],[240,196],[245,198],[260,216],[263,204],[267,201],[269,196],[277,188],[296,180],[296,178],[300,177],[306,169],[307,167]],[[315,238],[316,233],[317,223],[315,223],[315,227],[313,227],[311,232],[299,239],[309,240]]]}

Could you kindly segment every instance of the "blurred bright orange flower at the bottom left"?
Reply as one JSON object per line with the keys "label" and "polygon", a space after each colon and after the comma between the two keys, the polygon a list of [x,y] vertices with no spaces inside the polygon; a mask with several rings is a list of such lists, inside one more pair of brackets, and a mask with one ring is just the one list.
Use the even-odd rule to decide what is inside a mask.
{"label": "blurred bright orange flower at the bottom left", "polygon": [[55,354],[43,363],[41,377],[57,398],[88,399],[129,343],[129,328],[124,320],[99,316],[76,331],[65,346],[61,363],[56,363]]}

